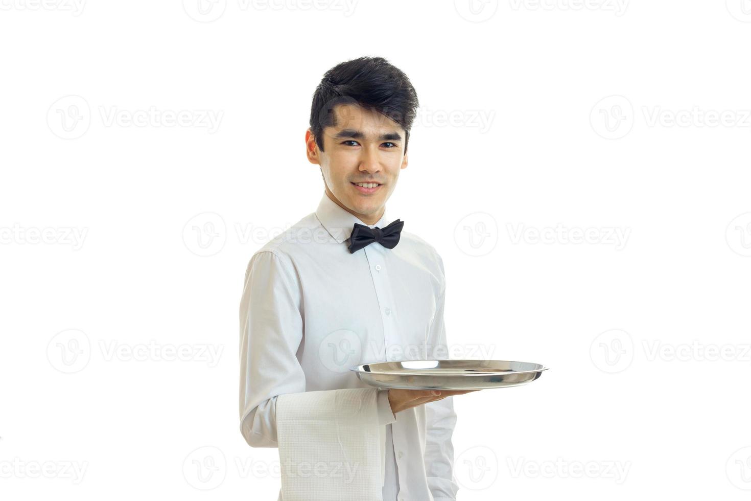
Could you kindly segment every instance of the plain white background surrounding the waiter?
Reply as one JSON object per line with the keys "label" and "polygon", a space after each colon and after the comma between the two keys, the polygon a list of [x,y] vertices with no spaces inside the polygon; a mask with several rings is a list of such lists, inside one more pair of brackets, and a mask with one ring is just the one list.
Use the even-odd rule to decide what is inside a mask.
{"label": "plain white background surrounding the waiter", "polygon": [[459,499],[747,499],[751,2],[269,2],[0,0],[0,495],[276,499],[243,275],[371,55],[421,102],[388,205],[449,343],[550,367],[454,399]]}

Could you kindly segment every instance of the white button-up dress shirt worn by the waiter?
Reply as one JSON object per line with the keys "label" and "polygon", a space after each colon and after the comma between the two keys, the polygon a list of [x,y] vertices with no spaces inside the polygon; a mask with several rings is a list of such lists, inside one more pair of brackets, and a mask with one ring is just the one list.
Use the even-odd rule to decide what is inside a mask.
{"label": "white button-up dress shirt worn by the waiter", "polygon": [[[384,228],[387,213],[366,226]],[[374,242],[350,253],[354,223],[365,224],[324,192],[315,213],[250,259],[240,302],[240,431],[252,447],[278,447],[279,394],[369,388],[351,367],[448,358],[436,249],[403,230],[394,249]],[[456,499],[452,397],[394,415],[379,390],[378,418],[384,501]]]}

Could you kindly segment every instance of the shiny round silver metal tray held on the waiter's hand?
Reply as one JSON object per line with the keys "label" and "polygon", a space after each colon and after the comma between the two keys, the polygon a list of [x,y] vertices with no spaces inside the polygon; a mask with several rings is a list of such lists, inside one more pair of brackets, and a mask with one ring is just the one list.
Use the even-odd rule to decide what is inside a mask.
{"label": "shiny round silver metal tray held on the waiter's hand", "polygon": [[484,390],[526,385],[547,367],[506,360],[406,360],[363,364],[350,370],[360,381],[379,388]]}

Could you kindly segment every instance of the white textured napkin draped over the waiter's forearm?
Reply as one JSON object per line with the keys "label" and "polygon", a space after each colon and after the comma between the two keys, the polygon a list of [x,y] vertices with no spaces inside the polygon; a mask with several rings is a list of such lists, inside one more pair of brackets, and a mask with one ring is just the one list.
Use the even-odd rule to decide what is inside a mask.
{"label": "white textured napkin draped over the waiter's forearm", "polygon": [[[381,501],[385,426],[377,388],[279,395],[276,430],[285,501]],[[389,407],[388,413],[394,418]]]}

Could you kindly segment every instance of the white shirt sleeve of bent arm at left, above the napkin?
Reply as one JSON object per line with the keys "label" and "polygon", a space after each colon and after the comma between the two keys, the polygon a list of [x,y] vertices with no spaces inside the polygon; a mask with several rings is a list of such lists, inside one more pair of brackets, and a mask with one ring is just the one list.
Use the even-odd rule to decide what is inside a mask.
{"label": "white shirt sleeve of bent arm at left, above the napkin", "polygon": [[276,397],[305,391],[297,360],[303,301],[291,259],[256,252],[240,300],[240,432],[251,447],[278,447]]}

